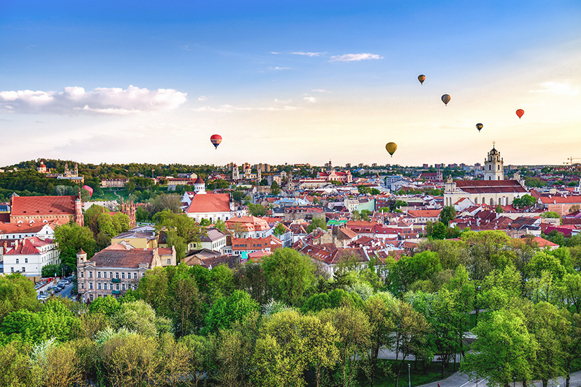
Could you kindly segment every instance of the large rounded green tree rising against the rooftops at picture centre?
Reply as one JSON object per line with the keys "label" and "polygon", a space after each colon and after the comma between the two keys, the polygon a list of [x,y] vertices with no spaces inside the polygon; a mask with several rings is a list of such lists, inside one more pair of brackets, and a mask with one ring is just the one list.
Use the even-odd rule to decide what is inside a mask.
{"label": "large rounded green tree rising against the rooftops at picture centre", "polygon": [[263,261],[263,270],[277,299],[295,305],[315,281],[311,258],[292,248],[278,248]]}

